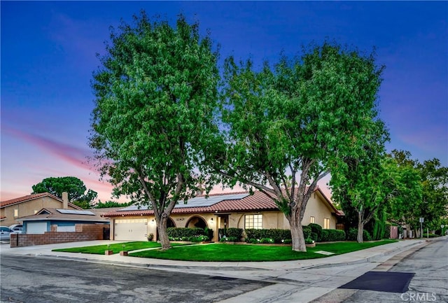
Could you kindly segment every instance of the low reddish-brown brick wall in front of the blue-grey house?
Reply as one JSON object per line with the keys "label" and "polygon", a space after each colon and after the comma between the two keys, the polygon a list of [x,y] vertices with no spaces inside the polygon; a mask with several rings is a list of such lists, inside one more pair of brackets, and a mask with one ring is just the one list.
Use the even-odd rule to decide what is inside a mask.
{"label": "low reddish-brown brick wall in front of the blue-grey house", "polygon": [[103,227],[99,224],[76,224],[75,232],[45,232],[45,234],[11,234],[10,247],[34,246],[103,239]]}

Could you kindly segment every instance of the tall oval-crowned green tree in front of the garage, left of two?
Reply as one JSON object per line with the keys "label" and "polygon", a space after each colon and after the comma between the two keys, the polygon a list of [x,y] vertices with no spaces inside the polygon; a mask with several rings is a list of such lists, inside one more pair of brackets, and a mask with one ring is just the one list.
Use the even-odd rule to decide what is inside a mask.
{"label": "tall oval-crowned green tree in front of the garage, left of two", "polygon": [[111,31],[94,73],[90,146],[114,194],[153,209],[163,249],[171,247],[167,219],[176,203],[195,195],[202,149],[216,132],[212,48],[209,35],[201,37],[183,15],[172,27],[141,12]]}

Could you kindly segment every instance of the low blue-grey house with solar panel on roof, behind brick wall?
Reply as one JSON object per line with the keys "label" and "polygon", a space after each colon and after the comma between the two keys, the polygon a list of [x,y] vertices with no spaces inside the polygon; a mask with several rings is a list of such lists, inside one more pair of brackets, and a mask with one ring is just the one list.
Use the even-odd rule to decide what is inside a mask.
{"label": "low blue-grey house with solar panel on roof, behind brick wall", "polygon": [[55,209],[45,207],[35,215],[18,218],[25,234],[45,232],[75,232],[78,224],[100,224],[109,230],[109,219],[90,210]]}

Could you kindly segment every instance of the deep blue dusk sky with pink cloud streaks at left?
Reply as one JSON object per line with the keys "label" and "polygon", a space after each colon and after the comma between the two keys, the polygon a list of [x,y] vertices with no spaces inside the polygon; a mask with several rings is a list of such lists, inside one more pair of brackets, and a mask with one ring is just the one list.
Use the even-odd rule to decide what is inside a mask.
{"label": "deep blue dusk sky with pink cloud streaks at left", "polygon": [[198,20],[221,45],[220,64],[234,55],[260,66],[325,38],[367,53],[375,47],[386,66],[379,108],[387,149],[448,166],[447,1],[1,1],[0,9],[1,201],[57,176],[76,176],[102,202],[111,199],[111,185],[87,163],[90,80],[109,27],[141,9],[173,24],[179,13]]}

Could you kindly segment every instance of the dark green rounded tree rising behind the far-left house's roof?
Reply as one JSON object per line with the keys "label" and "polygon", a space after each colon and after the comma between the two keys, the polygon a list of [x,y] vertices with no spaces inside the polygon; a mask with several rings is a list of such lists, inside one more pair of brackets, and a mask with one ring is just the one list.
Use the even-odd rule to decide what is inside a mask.
{"label": "dark green rounded tree rising behind the far-left house's roof", "polygon": [[83,181],[72,176],[45,178],[33,185],[32,189],[32,194],[50,192],[50,194],[59,198],[62,198],[62,192],[67,192],[69,194],[69,202],[83,209],[88,209],[98,195],[94,190],[87,190]]}

